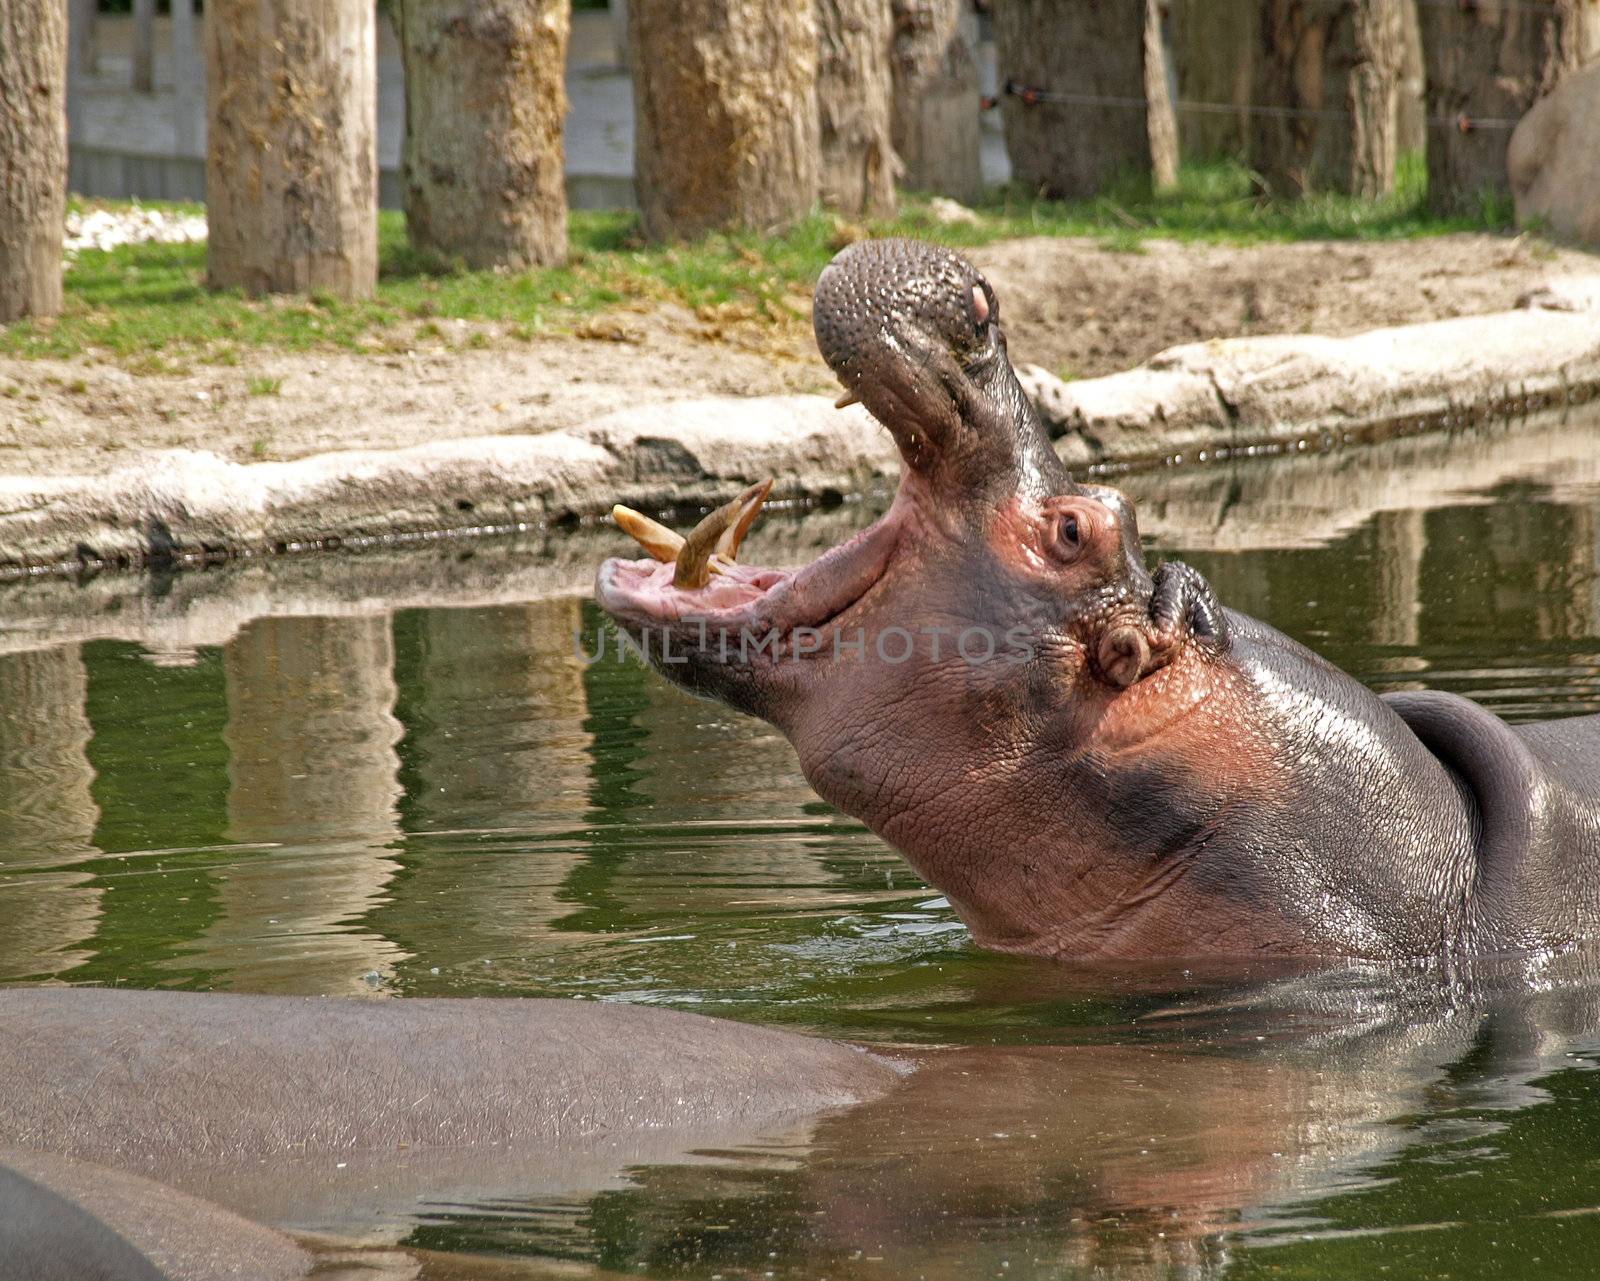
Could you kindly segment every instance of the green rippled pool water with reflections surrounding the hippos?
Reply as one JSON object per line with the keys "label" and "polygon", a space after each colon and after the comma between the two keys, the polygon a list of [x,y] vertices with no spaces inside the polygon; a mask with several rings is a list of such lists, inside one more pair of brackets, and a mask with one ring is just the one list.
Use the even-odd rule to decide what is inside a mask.
{"label": "green rippled pool water with reflections surrounding the hippos", "polygon": [[[1600,712],[1597,424],[1125,485],[1157,553],[1376,688]],[[395,1239],[446,1252],[730,1281],[1594,1273],[1587,966],[976,952],[781,736],[582,662],[582,597],[517,597],[534,555],[581,582],[590,542],[416,561],[430,606],[397,605],[405,561],[99,584],[82,616],[0,597],[0,982],[624,1000],[952,1048],[806,1132],[410,1209]]]}

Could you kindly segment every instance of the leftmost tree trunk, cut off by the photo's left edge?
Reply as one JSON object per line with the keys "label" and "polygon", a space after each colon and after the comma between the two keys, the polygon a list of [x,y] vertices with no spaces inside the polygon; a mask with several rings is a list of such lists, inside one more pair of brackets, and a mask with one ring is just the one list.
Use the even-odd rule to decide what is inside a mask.
{"label": "leftmost tree trunk, cut off by the photo's left edge", "polygon": [[0,0],[0,325],[61,310],[67,8]]}

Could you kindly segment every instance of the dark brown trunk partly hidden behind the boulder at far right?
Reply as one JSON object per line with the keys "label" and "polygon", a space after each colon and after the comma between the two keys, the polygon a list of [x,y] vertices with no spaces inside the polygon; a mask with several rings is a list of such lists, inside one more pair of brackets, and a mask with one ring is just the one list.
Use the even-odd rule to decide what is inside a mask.
{"label": "dark brown trunk partly hidden behind the boulder at far right", "polygon": [[[1427,203],[1435,213],[1509,200],[1506,147],[1528,107],[1578,66],[1594,0],[1422,5],[1427,67]],[[1466,126],[1450,123],[1464,120]]]}

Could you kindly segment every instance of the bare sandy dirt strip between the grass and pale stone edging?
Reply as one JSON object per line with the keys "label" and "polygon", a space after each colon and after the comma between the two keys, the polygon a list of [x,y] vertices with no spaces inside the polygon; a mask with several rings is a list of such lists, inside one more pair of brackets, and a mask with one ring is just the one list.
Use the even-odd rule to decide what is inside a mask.
{"label": "bare sandy dirt strip between the grass and pale stone edging", "polygon": [[[1349,334],[1504,310],[1546,280],[1600,270],[1600,256],[1490,235],[1250,248],[1147,241],[1142,253],[1018,240],[973,257],[1000,293],[1013,358],[1072,376],[1115,373],[1208,337]],[[93,475],[139,449],[285,461],[571,429],[686,397],[834,387],[803,315],[773,328],[677,307],[619,310],[584,326],[584,337],[533,342],[493,325],[437,328],[442,336],[400,353],[258,350],[235,366],[179,376],[93,360],[0,360],[0,475]]]}

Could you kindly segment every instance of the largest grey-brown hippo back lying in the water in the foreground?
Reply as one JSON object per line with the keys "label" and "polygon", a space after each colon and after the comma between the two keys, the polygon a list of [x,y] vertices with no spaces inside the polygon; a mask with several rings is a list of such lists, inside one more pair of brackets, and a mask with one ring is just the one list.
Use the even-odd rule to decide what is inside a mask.
{"label": "largest grey-brown hippo back lying in the water in the foreground", "polygon": [[125,1167],[693,1142],[861,1102],[851,1046],[598,1001],[0,990],[0,1145]]}

